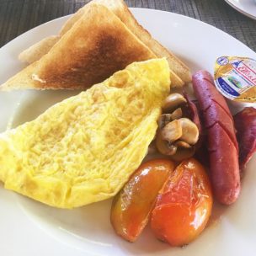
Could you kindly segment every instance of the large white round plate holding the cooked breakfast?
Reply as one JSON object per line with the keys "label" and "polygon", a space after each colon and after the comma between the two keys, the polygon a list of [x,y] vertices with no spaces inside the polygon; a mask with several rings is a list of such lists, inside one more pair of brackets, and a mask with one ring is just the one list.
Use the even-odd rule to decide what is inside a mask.
{"label": "large white round plate holding the cooked breakfast", "polygon": [[[136,19],[193,71],[213,71],[218,56],[256,54],[221,30],[195,19],[133,8]],[[48,35],[56,35],[68,18],[30,30],[0,49],[0,83],[22,68],[20,51]],[[76,92],[0,93],[0,130],[8,120],[32,120],[51,104]],[[19,255],[256,255],[256,157],[248,164],[243,191],[236,204],[216,206],[211,225],[186,248],[170,248],[147,229],[136,243],[115,235],[109,223],[110,200],[65,211],[42,205],[0,187],[0,252]],[[1,185],[0,185],[1,186]]]}

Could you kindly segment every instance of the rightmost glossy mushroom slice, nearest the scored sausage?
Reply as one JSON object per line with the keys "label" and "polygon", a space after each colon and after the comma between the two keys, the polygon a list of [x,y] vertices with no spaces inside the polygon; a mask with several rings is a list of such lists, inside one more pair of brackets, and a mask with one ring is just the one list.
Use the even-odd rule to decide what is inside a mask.
{"label": "rightmost glossy mushroom slice, nearest the scored sausage", "polygon": [[179,122],[182,126],[182,136],[180,140],[187,142],[189,145],[195,145],[199,137],[199,131],[195,123],[188,118],[180,118]]}

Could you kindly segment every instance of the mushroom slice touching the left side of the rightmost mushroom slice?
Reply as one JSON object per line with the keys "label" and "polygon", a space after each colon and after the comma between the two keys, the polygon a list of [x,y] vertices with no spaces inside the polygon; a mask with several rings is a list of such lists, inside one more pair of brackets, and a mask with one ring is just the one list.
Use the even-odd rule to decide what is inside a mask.
{"label": "mushroom slice touching the left side of the rightmost mushroom slice", "polygon": [[173,141],[179,140],[183,136],[183,127],[180,120],[173,120],[165,125],[161,131],[163,141],[172,143]]}

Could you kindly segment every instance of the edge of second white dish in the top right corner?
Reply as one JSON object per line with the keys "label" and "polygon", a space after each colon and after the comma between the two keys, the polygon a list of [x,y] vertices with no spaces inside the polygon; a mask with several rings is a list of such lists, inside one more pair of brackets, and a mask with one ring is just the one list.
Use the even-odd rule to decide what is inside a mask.
{"label": "edge of second white dish in the top right corner", "polygon": [[255,0],[225,0],[232,8],[244,15],[256,19],[256,1]]}

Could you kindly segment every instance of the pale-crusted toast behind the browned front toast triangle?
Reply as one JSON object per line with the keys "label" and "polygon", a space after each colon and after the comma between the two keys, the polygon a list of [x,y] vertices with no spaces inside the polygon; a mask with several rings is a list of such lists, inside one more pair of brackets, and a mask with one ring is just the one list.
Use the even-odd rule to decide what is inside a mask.
{"label": "pale-crusted toast behind the browned front toast triangle", "polygon": [[[191,73],[189,71],[189,67],[187,67],[183,61],[180,61],[179,58],[174,56],[171,51],[168,51],[163,47],[163,45],[158,43],[157,40],[154,40],[147,30],[143,29],[143,27],[138,24],[123,0],[93,0],[83,8],[80,8],[77,13],[72,15],[72,17],[67,20],[67,23],[64,24],[61,29],[59,37],[56,37],[56,40],[61,38],[62,35],[65,35],[65,33],[72,28],[73,24],[75,24],[77,20],[83,16],[83,13],[86,11],[89,5],[93,3],[99,3],[109,8],[109,10],[115,13],[115,15],[119,17],[127,28],[130,29],[132,33],[135,34],[145,45],[147,45],[157,57],[166,57],[168,59],[170,69],[173,71],[171,73],[173,86],[181,87],[184,85],[184,83],[191,82]],[[55,43],[56,42],[52,40],[52,37],[46,38],[44,42],[41,41],[41,43],[39,42],[32,45],[29,47],[29,49],[23,51],[19,55],[19,59],[21,61],[32,63],[35,60],[40,59],[41,56],[45,55],[45,53],[49,51],[50,45],[53,46]],[[45,47],[44,44],[47,45],[47,47]]]}

